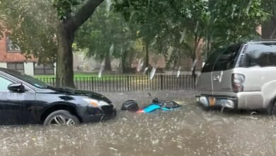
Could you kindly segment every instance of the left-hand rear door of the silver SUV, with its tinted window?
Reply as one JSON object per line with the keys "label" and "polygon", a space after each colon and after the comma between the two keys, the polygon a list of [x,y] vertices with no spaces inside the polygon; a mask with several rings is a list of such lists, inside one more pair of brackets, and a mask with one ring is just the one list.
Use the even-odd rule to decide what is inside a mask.
{"label": "left-hand rear door of the silver SUV, with its tinted window", "polygon": [[219,49],[213,52],[212,55],[209,56],[202,69],[202,73],[200,75],[200,91],[202,94],[212,94],[212,71],[214,68],[214,63],[223,51],[224,49]]}

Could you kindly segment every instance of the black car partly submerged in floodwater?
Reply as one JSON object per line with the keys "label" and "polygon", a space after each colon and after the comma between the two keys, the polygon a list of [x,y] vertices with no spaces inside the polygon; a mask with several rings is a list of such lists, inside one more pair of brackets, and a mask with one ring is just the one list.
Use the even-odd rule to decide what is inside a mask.
{"label": "black car partly submerged in floodwater", "polygon": [[74,125],[116,116],[105,96],[51,87],[38,79],[0,68],[0,124]]}

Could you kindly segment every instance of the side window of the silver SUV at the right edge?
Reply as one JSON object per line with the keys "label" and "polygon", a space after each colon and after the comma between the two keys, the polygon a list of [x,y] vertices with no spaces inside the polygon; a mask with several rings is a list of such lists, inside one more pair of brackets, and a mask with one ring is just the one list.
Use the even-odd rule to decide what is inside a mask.
{"label": "side window of the silver SUV at the right edge", "polygon": [[276,66],[276,43],[255,43],[248,46],[246,67]]}

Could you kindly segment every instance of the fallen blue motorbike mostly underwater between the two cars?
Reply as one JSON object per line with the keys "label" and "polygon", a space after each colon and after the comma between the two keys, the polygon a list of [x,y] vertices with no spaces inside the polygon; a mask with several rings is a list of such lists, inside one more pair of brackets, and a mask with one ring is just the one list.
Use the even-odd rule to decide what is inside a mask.
{"label": "fallen blue motorbike mostly underwater between the two cars", "polygon": [[[149,94],[151,96],[151,94]],[[151,96],[152,99],[152,96]],[[159,100],[158,98],[152,99],[151,104],[144,108],[139,108],[137,101],[128,100],[122,104],[122,111],[133,111],[137,113],[152,113],[154,111],[173,111],[180,108],[181,105],[175,101]]]}

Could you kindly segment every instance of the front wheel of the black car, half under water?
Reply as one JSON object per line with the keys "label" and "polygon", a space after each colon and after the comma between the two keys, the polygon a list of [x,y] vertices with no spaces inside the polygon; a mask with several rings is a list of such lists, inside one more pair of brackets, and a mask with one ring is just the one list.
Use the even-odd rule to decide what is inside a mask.
{"label": "front wheel of the black car, half under water", "polygon": [[50,113],[45,119],[44,123],[47,125],[65,125],[71,126],[79,124],[79,119],[72,115],[69,111],[59,110]]}

